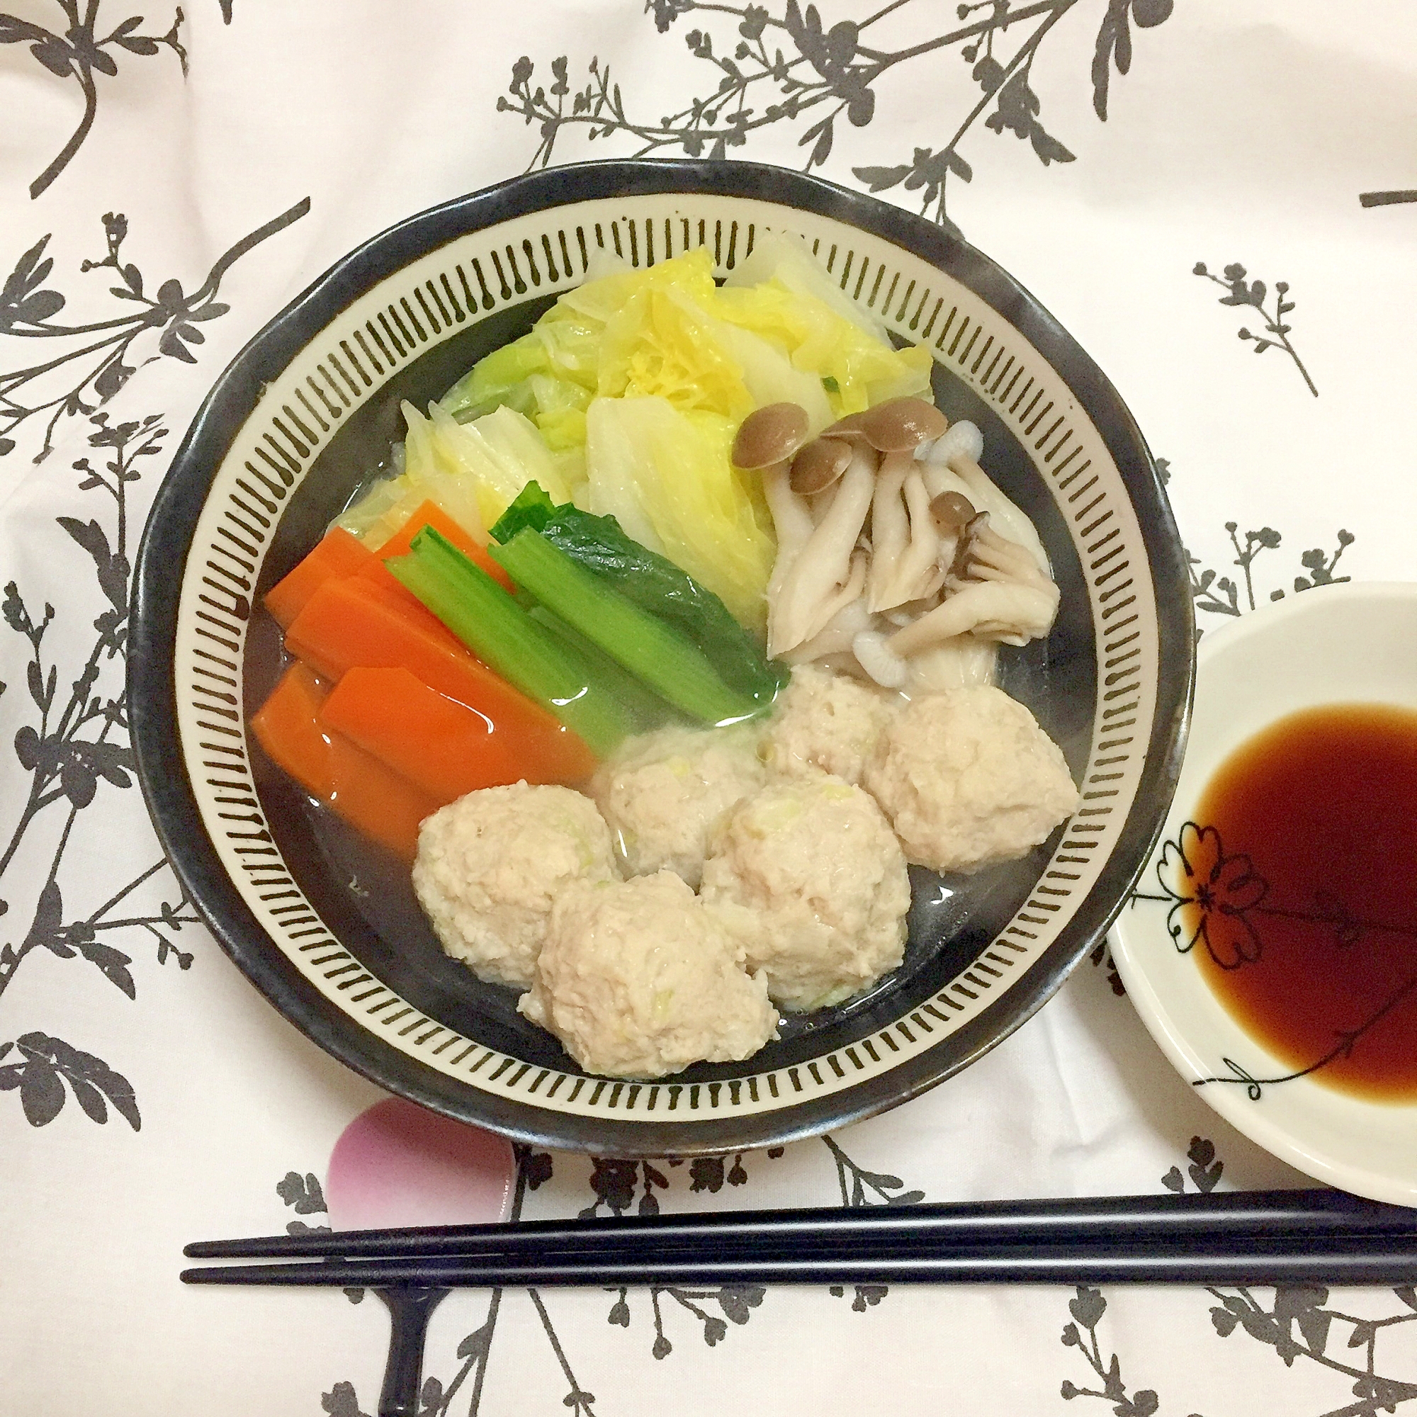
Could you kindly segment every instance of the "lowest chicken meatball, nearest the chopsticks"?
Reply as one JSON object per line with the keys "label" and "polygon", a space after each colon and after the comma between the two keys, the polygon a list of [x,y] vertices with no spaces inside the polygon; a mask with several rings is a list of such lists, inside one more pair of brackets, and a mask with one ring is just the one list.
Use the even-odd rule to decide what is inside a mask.
{"label": "lowest chicken meatball, nearest the chopsticks", "polygon": [[568,886],[517,1007],[588,1073],[663,1077],[735,1063],[778,1015],[743,948],[672,871]]}

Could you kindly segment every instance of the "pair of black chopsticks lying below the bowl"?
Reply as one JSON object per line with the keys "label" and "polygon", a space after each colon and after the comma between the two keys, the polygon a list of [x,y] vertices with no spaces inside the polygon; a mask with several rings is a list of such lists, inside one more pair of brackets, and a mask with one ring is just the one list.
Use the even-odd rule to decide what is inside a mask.
{"label": "pair of black chopsticks lying below the bowl", "polygon": [[187,1284],[1414,1284],[1417,1210],[1332,1190],[730,1212],[208,1240]]}

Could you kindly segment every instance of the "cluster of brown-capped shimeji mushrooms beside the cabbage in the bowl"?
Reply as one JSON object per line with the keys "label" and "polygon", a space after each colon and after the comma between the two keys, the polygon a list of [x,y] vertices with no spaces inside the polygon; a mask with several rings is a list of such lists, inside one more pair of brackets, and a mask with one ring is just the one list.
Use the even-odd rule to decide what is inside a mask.
{"label": "cluster of brown-capped shimeji mushrooms beside the cabbage in the bowl", "polygon": [[740,468],[762,470],[778,531],[769,655],[846,660],[908,689],[988,673],[992,642],[1049,632],[1057,587],[1032,523],[979,468],[978,428],[918,398],[811,441],[806,428],[801,410],[769,405],[734,444]]}

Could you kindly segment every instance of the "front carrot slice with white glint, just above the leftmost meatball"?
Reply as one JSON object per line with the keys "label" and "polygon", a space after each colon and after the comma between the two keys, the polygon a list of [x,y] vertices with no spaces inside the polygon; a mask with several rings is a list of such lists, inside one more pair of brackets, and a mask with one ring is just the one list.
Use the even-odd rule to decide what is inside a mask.
{"label": "front carrot slice with white glint, just above the leftmost meatball", "polygon": [[324,721],[439,802],[523,779],[578,782],[595,768],[568,728],[551,720],[547,730],[540,710],[493,718],[407,669],[351,669],[330,694]]}

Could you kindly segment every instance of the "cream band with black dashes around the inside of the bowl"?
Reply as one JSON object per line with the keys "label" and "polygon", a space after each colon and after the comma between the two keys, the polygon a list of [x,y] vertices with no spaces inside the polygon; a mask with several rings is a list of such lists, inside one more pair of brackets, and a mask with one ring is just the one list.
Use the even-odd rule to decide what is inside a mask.
{"label": "cream band with black dashes around the inside of the bowl", "polygon": [[[421,1013],[368,973],[306,898],[275,846],[251,771],[241,714],[251,597],[286,499],[391,374],[469,322],[578,285],[595,248],[648,265],[707,245],[724,275],[760,227],[805,235],[847,295],[928,347],[995,408],[1053,492],[1097,635],[1083,803],[999,937],[890,1026],[808,1063],[723,1083],[580,1077],[499,1053]],[[275,947],[387,1046],[468,1087],[560,1112],[691,1122],[774,1111],[854,1087],[937,1046],[1007,992],[1085,898],[1135,799],[1155,717],[1158,623],[1146,567],[1117,466],[1067,385],[1000,315],[928,262],[769,201],[665,194],[577,203],[461,237],[388,276],[265,388],[217,470],[183,572],[174,646],[181,752],[217,854]]]}

